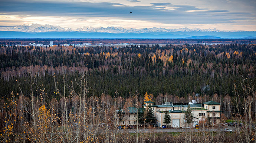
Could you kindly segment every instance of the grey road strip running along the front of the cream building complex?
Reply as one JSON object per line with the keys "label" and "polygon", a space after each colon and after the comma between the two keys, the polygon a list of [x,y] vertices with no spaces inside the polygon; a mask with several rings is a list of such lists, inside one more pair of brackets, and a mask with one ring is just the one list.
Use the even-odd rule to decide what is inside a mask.
{"label": "grey road strip running along the front of the cream building complex", "polygon": [[[235,127],[232,127],[232,126],[226,126],[223,128],[223,132],[224,132],[224,129],[225,128],[229,128],[231,129],[233,132],[234,130],[236,130]],[[220,131],[221,132],[221,128],[205,128],[205,129],[195,129],[195,128],[187,128],[187,132],[200,132],[200,131],[214,131],[214,132],[217,132],[217,131]],[[128,133],[136,133],[136,129],[122,129],[122,130],[118,130],[118,132],[128,132]],[[138,132],[142,132],[142,133],[152,133],[152,132],[155,132],[155,133],[171,133],[171,132],[186,132],[186,129],[185,128],[168,128],[168,129],[161,129],[161,128],[153,128],[153,129],[148,129],[147,127],[146,128],[140,128],[138,129]]]}

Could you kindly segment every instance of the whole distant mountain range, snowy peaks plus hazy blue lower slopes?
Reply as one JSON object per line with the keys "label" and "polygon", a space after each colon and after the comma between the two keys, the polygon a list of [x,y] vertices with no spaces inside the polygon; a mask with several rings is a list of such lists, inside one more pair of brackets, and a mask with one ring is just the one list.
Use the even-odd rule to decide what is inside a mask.
{"label": "whole distant mountain range, snowy peaks plus hazy blue lower slopes", "polygon": [[[0,26],[0,38],[246,38],[255,37],[256,31],[227,31],[200,28],[122,28],[122,27],[81,27],[63,28],[53,25]],[[249,39],[249,38],[247,38]]]}

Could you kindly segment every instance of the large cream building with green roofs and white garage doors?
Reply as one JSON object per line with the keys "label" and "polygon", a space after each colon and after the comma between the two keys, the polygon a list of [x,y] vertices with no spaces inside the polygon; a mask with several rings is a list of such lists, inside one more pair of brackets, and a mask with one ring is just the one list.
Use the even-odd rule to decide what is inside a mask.
{"label": "large cream building with green roofs and white garage doors", "polygon": [[[154,102],[147,101],[143,105],[145,109],[148,108],[149,104]],[[187,111],[188,106],[192,110],[193,114],[193,126],[196,124],[204,123],[209,115],[211,122],[214,124],[220,122],[220,104],[215,101],[208,101],[202,104],[188,104],[188,105],[175,105],[172,102],[165,102],[162,105],[152,105],[155,118],[157,119],[157,125],[161,127],[164,124],[164,113],[165,111],[169,112],[171,115],[171,123],[169,126],[173,128],[185,127],[185,112]]]}

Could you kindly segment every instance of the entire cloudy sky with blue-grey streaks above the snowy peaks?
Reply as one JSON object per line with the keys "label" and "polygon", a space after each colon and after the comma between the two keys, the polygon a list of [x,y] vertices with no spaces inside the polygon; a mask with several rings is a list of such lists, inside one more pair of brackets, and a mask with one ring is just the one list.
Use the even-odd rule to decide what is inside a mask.
{"label": "entire cloudy sky with blue-grey streaks above the snowy peaks", "polygon": [[[256,31],[255,0],[0,0],[0,26]],[[132,11],[132,14],[129,13]]]}

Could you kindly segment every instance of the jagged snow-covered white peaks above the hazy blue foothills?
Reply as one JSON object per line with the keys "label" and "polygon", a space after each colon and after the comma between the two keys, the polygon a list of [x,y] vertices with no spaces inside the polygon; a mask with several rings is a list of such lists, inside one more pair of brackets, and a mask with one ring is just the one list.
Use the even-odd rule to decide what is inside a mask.
{"label": "jagged snow-covered white peaks above the hazy blue foothills", "polygon": [[[63,32],[63,31],[73,31],[73,32],[102,32],[102,33],[169,33],[169,32],[230,32],[230,31],[221,31],[216,28],[214,29],[200,29],[193,28],[189,29],[178,28],[178,29],[166,29],[166,28],[122,28],[122,27],[82,27],[77,29],[71,28],[62,28],[60,26],[53,25],[40,25],[40,24],[31,24],[31,25],[19,25],[15,27],[0,27],[0,31],[19,31],[19,32]],[[237,31],[232,31],[237,32]]]}

